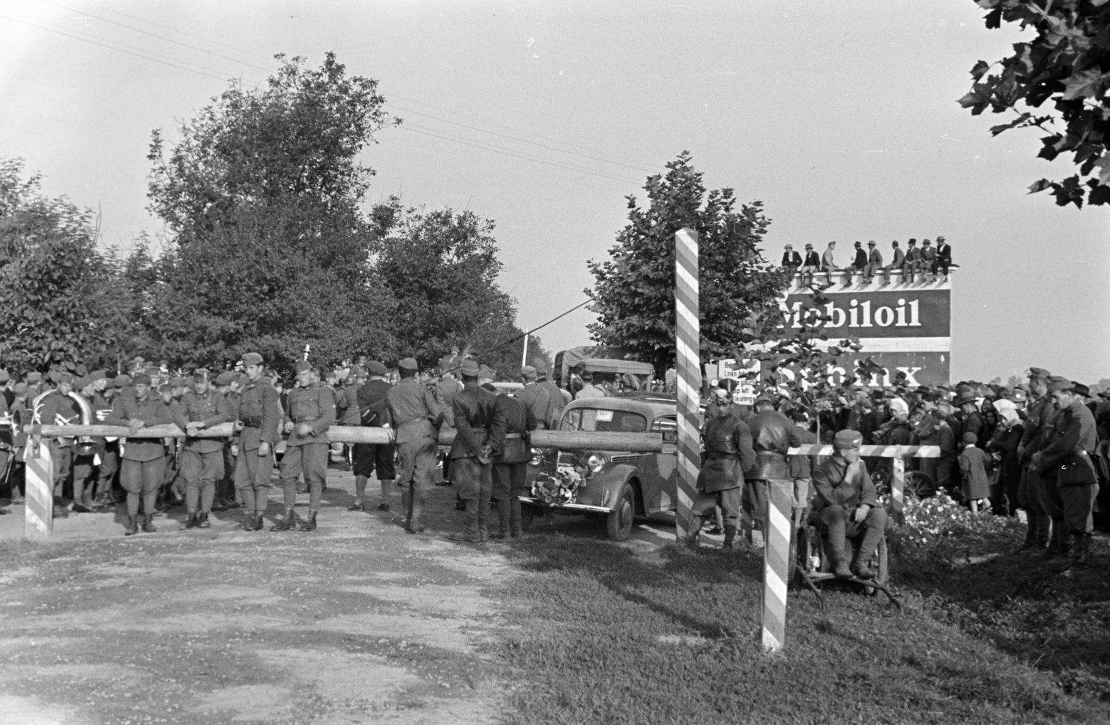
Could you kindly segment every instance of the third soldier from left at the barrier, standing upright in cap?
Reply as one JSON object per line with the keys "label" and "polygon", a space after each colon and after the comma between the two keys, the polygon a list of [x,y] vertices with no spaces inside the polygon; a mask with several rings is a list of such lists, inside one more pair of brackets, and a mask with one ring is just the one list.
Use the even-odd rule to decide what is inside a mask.
{"label": "third soldier from left at the barrier, standing upright in cap", "polygon": [[[278,391],[262,377],[262,356],[243,356],[246,385],[243,391],[229,395],[226,413],[238,421],[238,443],[234,445],[235,489],[243,498],[242,527],[246,531],[262,529],[262,515],[270,502],[270,474],[274,470],[274,447],[281,439],[281,407]],[[224,378],[223,376],[228,376]],[[229,380],[232,374],[221,372],[216,381]]]}

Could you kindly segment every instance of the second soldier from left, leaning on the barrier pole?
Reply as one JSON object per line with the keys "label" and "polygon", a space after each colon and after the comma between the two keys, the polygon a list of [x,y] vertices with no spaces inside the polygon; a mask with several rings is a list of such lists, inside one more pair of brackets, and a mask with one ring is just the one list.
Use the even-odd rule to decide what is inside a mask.
{"label": "second soldier from left, leaning on the barrier pole", "polygon": [[181,476],[185,479],[188,517],[181,529],[208,529],[209,514],[215,499],[215,482],[223,478],[223,441],[218,438],[194,438],[196,431],[228,422],[228,400],[212,389],[210,374],[204,368],[193,374],[194,390],[182,395],[174,412],[174,422],[185,431],[181,451]]}

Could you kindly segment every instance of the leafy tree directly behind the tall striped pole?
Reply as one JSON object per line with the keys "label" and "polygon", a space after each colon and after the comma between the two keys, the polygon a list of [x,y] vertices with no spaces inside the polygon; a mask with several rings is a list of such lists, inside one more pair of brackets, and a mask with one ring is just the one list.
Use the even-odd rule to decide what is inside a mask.
{"label": "leafy tree directly behind the tall striped pole", "polygon": [[733,190],[706,193],[702,172],[687,152],[667,164],[666,175],[649,176],[648,208],[628,196],[628,225],[617,235],[609,258],[588,263],[596,279],[597,323],[592,338],[629,348],[655,366],[657,375],[675,365],[675,232],[698,233],[698,285],[702,356],[728,357],[744,335],[749,315],[777,314],[786,276],[763,258],[758,247],[770,221],[763,204],[735,211]]}

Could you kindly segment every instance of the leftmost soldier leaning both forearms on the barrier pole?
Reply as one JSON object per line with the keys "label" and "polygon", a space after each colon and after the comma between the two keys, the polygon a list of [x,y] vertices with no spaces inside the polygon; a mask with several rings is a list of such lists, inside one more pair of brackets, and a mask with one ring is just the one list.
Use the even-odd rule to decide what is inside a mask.
{"label": "leftmost soldier leaning both forearms on the barrier pole", "polygon": [[140,372],[132,378],[134,395],[120,396],[112,402],[112,412],[104,420],[109,426],[125,426],[130,436],[121,453],[120,486],[128,492],[128,527],[124,535],[139,532],[139,504],[142,503],[142,530],[155,531],[154,503],[158,488],[165,473],[165,448],[161,438],[134,438],[148,426],[173,422],[170,407],[151,391],[151,378]]}

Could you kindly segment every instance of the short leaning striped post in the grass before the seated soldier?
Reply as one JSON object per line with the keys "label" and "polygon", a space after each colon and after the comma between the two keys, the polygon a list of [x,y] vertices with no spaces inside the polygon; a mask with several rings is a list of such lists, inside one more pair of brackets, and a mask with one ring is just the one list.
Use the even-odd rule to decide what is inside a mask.
{"label": "short leaning striped post in the grass before the seated soldier", "polygon": [[767,481],[764,542],[763,647],[771,654],[786,643],[786,578],[790,556],[790,506],[794,481]]}

